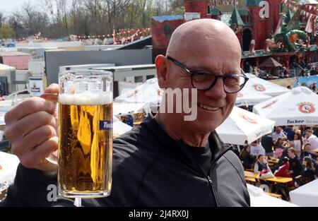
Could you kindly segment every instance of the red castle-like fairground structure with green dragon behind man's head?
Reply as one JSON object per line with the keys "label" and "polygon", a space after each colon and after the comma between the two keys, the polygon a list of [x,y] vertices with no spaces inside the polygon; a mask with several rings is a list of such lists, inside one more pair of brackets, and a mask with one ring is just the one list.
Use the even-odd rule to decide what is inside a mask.
{"label": "red castle-like fairground structure with green dragon behind man's head", "polygon": [[[259,68],[273,76],[293,70],[303,75],[316,68],[316,0],[186,0],[185,13],[152,19],[153,57],[165,53],[172,32],[187,20],[213,18],[236,33],[242,47],[242,68],[259,74]],[[223,12],[220,6],[232,7]]]}

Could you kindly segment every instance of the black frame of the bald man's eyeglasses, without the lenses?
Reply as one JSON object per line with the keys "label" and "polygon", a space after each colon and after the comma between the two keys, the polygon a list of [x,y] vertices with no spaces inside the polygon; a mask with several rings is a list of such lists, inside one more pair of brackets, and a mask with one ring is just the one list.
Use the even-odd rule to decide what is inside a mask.
{"label": "black frame of the bald man's eyeglasses, without the lenses", "polygon": [[[196,88],[196,87],[194,86],[194,83],[193,83],[193,77],[194,77],[194,75],[195,75],[196,73],[201,73],[201,74],[204,73],[204,74],[206,74],[206,75],[216,76],[216,79],[211,83],[211,85],[210,85],[208,88],[206,88],[206,89],[196,88],[197,90],[210,90],[214,85],[216,85],[216,81],[218,80],[218,78],[222,78],[224,91],[225,91],[226,93],[229,93],[229,94],[235,94],[235,93],[237,93],[237,92],[240,92],[240,90],[242,90],[242,89],[244,88],[245,84],[247,83],[247,80],[249,80],[249,78],[245,75],[245,72],[242,70],[242,68],[241,68],[241,72],[242,72],[243,74],[232,73],[232,74],[229,74],[229,75],[227,75],[227,76],[217,76],[217,75],[214,74],[214,73],[211,73],[211,72],[208,72],[208,71],[204,71],[204,70],[198,70],[198,71],[190,70],[189,68],[187,68],[187,66],[185,66],[184,64],[182,64],[180,61],[177,61],[177,59],[172,58],[171,56],[167,56],[167,59],[169,59],[170,61],[172,61],[173,64],[179,66],[180,68],[184,69],[184,71],[187,71],[187,73],[190,74],[190,76],[191,76],[191,83],[192,83],[192,87],[193,87],[193,88]],[[225,90],[224,81],[225,81],[226,78],[229,78],[230,76],[233,76],[233,75],[243,77],[243,78],[245,79],[245,81],[244,81],[244,83],[242,83],[242,85],[240,85],[240,90],[237,90],[236,92],[228,92],[228,91]]]}

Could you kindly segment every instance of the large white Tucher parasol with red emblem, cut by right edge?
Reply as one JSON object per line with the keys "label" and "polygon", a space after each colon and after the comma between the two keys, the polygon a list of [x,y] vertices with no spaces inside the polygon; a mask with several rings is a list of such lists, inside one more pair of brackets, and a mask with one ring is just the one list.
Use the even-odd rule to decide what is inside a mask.
{"label": "large white Tucher parasol with red emblem, cut by right edge", "polygon": [[309,88],[293,88],[257,104],[253,112],[276,121],[276,126],[318,124],[318,95]]}

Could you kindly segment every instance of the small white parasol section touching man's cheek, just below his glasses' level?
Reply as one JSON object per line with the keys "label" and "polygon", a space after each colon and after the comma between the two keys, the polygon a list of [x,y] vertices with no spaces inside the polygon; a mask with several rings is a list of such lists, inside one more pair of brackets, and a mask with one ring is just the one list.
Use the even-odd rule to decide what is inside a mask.
{"label": "small white parasol section touching man's cheek, just below his glasses' level", "polygon": [[237,93],[235,106],[237,107],[245,106],[245,105],[252,106],[269,99],[271,99],[271,96],[269,95],[243,88],[240,92]]}

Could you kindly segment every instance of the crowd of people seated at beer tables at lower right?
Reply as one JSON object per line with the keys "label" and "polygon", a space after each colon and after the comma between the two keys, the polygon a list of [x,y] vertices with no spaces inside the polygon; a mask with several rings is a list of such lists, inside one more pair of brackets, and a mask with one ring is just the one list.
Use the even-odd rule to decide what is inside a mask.
{"label": "crowd of people seated at beer tables at lower right", "polygon": [[[277,126],[273,133],[254,141],[240,152],[245,169],[258,173],[272,173],[276,177],[292,177],[288,186],[298,187],[318,179],[317,129]],[[266,159],[279,159],[269,167]],[[261,181],[264,183],[264,181]]]}

